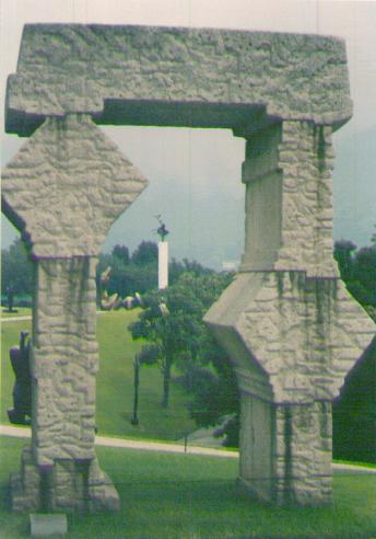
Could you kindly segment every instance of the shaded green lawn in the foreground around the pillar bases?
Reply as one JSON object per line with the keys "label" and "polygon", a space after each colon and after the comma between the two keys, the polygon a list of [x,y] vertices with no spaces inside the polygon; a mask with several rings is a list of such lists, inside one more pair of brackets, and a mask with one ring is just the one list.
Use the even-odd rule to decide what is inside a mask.
{"label": "shaded green lawn in the foreground around the pillar bases", "polygon": [[[9,512],[8,473],[24,440],[0,437],[1,537],[26,537],[27,515]],[[69,516],[71,539],[376,537],[376,475],[334,472],[333,506],[272,508],[236,484],[236,459],[97,448],[121,498],[116,514]]]}

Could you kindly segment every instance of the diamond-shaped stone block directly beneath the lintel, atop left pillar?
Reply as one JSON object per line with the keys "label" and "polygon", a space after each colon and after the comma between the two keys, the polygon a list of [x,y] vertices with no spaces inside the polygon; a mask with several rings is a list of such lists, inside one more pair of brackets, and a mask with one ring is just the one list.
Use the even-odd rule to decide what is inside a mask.
{"label": "diamond-shaped stone block directly beneath the lintel, atop left pillar", "polygon": [[36,257],[95,256],[145,185],[90,116],[47,118],[2,172],[3,211]]}

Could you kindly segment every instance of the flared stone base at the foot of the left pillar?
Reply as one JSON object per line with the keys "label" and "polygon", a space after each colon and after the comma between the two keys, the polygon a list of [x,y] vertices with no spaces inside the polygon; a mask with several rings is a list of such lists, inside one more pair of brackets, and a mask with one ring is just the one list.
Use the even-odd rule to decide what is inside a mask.
{"label": "flared stone base at the foot of the left pillar", "polygon": [[34,462],[32,448],[22,451],[21,472],[11,475],[14,512],[118,511],[119,495],[108,475],[92,460],[56,460],[43,468]]}

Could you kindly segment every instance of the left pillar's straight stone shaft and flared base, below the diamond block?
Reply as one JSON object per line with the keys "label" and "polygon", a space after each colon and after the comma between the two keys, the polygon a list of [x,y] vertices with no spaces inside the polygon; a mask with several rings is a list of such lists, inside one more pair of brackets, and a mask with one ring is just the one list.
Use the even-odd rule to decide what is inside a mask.
{"label": "left pillar's straight stone shaft and flared base, below the diamond block", "polygon": [[33,311],[32,448],[12,479],[13,511],[119,508],[95,451],[96,259],[40,259]]}

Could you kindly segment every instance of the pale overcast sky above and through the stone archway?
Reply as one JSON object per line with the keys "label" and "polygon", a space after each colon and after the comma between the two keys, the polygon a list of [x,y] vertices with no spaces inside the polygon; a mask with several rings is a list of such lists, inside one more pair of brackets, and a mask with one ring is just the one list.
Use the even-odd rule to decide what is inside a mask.
{"label": "pale overcast sky above and through the stone archway", "polygon": [[[334,137],[338,154],[337,174],[334,171],[334,237],[343,236],[359,244],[368,241],[373,223],[376,222],[376,2],[0,0],[0,9],[1,50],[5,51],[1,55],[2,103],[7,76],[16,69],[25,23],[208,26],[343,37],[348,48],[354,115]],[[152,232],[155,225],[153,216],[162,213],[167,228],[172,229],[173,254],[177,257],[186,255],[205,259],[215,238],[216,219],[222,216],[222,221],[231,221],[228,239],[224,238],[226,232],[219,226],[226,244],[218,252],[209,253],[208,261],[202,261],[218,265],[219,260],[239,256],[244,220],[244,193],[239,182],[244,159],[242,139],[234,138],[230,131],[197,129],[113,127],[105,130],[151,182],[148,187],[150,193],[142,194],[134,208],[127,210],[113,227],[107,249],[116,242],[133,248],[142,239],[155,240]],[[2,135],[2,164],[7,163],[19,146],[17,137]],[[364,167],[359,162],[359,148],[363,150],[362,160],[366,160]],[[160,198],[158,191],[162,194]],[[218,191],[221,204],[216,207]],[[177,197],[175,213],[172,204],[166,204],[166,193]],[[222,207],[224,200],[227,202]],[[134,230],[134,220],[140,211],[148,216]],[[208,214],[209,221],[203,225],[205,230],[202,230],[200,220],[202,214]],[[148,233],[149,238],[144,238]],[[12,228],[3,225],[3,246],[13,238]]]}

